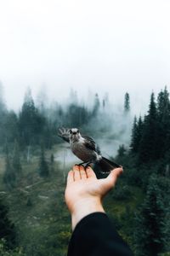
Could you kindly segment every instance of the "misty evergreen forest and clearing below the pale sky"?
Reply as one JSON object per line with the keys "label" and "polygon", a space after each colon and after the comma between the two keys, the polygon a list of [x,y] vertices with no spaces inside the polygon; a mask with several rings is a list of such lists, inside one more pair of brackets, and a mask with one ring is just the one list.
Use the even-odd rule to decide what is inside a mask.
{"label": "misty evergreen forest and clearing below the pale sky", "polygon": [[167,87],[151,93],[144,116],[133,116],[131,107],[128,92],[121,108],[114,108],[108,94],[96,92],[88,104],[71,90],[66,103],[47,103],[43,94],[35,101],[28,88],[16,112],[8,110],[0,86],[0,255],[67,253],[65,177],[76,162],[57,136],[59,127],[77,127],[94,137],[105,156],[123,166],[104,206],[134,255],[170,255]]}

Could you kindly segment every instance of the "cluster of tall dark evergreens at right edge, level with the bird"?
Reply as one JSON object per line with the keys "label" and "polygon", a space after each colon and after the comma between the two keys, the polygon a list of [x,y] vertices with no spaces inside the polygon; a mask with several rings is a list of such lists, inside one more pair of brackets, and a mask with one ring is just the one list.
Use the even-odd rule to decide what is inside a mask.
{"label": "cluster of tall dark evergreens at right edge, level with the bird", "polygon": [[170,102],[167,88],[161,90],[155,101],[150,96],[150,106],[144,120],[135,117],[133,122],[131,153],[138,156],[138,165],[151,164],[169,152],[170,144]]}

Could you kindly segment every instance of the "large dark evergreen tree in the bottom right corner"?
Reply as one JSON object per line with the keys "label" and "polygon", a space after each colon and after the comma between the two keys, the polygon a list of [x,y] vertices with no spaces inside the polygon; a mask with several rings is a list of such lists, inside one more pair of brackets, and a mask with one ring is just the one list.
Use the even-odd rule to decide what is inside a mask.
{"label": "large dark evergreen tree in the bottom right corner", "polygon": [[159,178],[150,177],[144,204],[136,216],[134,241],[137,256],[157,256],[167,242],[167,209],[163,203]]}

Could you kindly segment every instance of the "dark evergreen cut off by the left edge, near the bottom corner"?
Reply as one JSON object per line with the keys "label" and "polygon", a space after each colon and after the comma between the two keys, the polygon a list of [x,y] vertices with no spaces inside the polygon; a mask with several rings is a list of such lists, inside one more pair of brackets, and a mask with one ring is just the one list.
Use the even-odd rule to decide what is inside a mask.
{"label": "dark evergreen cut off by the left edge, near the bottom corner", "polygon": [[8,208],[0,199],[0,239],[5,239],[9,248],[14,247],[16,243],[16,234],[14,224],[8,219]]}

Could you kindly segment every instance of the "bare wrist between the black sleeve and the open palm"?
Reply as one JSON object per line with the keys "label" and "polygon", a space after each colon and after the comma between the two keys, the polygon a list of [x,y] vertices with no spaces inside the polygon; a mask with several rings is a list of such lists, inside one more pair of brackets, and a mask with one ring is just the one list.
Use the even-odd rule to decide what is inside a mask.
{"label": "bare wrist between the black sleeve and the open palm", "polygon": [[90,213],[105,212],[99,198],[82,199],[74,204],[71,211],[72,230],[75,229],[78,222]]}

